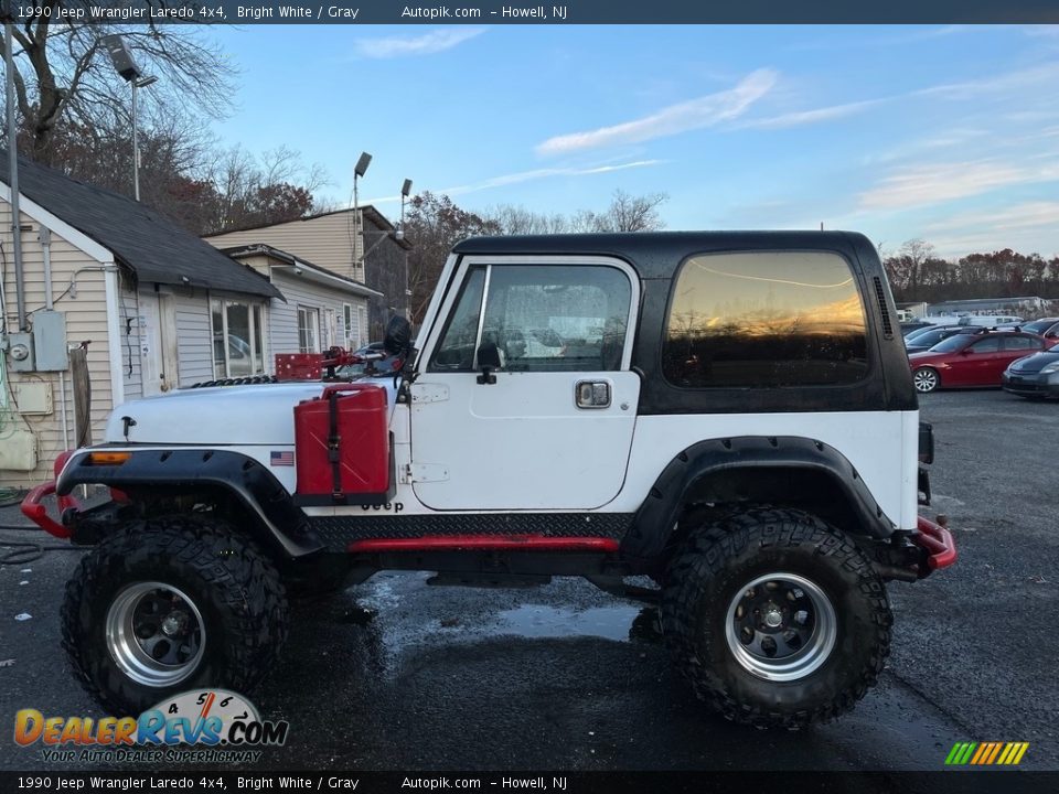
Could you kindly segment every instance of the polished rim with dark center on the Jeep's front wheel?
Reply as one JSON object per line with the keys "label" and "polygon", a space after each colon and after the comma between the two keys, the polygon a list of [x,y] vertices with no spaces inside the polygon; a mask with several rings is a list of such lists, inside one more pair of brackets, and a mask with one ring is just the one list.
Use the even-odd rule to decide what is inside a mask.
{"label": "polished rim with dark center on the Jeep's front wheel", "polygon": [[206,631],[195,603],[161,582],[121,590],[107,611],[107,650],[138,684],[168,687],[188,678],[202,661]]}

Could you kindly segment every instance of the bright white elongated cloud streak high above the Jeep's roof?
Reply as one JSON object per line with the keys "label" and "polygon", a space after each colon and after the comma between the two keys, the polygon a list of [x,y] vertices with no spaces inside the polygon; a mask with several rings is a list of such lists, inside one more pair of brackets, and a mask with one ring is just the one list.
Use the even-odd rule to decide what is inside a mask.
{"label": "bright white elongated cloud streak high above the Jeep's roof", "polygon": [[771,69],[758,69],[728,90],[671,105],[633,121],[556,136],[537,146],[536,151],[538,154],[566,154],[585,149],[642,143],[655,138],[713,127],[741,116],[748,107],[772,89],[777,76]]}

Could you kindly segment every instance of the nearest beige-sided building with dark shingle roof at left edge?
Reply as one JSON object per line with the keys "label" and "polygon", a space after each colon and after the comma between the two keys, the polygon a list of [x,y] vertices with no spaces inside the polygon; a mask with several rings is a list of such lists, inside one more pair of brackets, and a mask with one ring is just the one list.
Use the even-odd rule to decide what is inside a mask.
{"label": "nearest beige-sided building with dark shingle roof at left edge", "polygon": [[267,273],[143,205],[19,162],[21,290],[0,151],[2,487],[49,479],[125,400],[216,377],[235,358],[226,331],[239,365],[264,372],[269,307],[284,301]]}

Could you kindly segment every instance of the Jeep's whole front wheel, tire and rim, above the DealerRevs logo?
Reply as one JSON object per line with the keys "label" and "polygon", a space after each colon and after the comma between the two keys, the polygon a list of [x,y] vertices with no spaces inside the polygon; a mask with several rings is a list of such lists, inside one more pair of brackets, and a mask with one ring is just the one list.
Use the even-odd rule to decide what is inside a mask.
{"label": "Jeep's whole front wheel, tire and rim, above the DealerRevs logo", "polygon": [[173,516],[122,527],[66,586],[63,645],[110,713],[138,715],[199,687],[246,694],[287,635],[269,560],[231,527]]}

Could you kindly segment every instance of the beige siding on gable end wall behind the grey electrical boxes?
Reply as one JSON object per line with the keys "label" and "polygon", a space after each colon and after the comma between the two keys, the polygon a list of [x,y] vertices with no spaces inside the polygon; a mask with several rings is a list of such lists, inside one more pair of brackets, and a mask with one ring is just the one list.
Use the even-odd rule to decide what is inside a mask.
{"label": "beige siding on gable end wall behind the grey electrical boxes", "polygon": [[[3,245],[3,292],[7,328],[18,330],[18,304],[15,297],[14,255],[11,238],[11,208],[0,201],[0,243]],[[22,258],[25,283],[25,308],[33,311],[44,308],[44,250],[38,237],[40,224],[24,212],[20,218],[22,230]],[[66,315],[67,344],[87,341],[88,374],[92,385],[92,433],[98,440],[103,437],[107,417],[111,410],[110,352],[107,341],[107,302],[105,277],[99,262],[62,238],[52,234],[52,294],[55,310]],[[69,289],[74,283],[75,289]],[[32,315],[31,315],[32,316]],[[36,438],[38,466],[33,471],[0,470],[0,486],[26,487],[51,479],[55,455],[74,439],[73,388],[69,372],[65,373],[66,401],[62,398],[60,373],[12,373],[8,372],[11,383],[35,380],[52,386],[53,412],[43,416],[19,417],[12,412],[3,415],[2,423],[29,428]],[[4,384],[7,389],[8,385]],[[66,412],[67,437],[63,439],[62,418]],[[3,436],[0,427],[0,437]]]}

